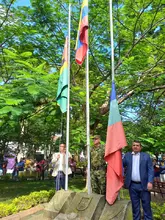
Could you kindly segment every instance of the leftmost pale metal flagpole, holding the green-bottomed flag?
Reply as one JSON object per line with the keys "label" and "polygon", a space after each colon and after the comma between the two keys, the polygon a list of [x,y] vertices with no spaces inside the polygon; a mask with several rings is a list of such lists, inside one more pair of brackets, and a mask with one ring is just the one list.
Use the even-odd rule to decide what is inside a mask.
{"label": "leftmost pale metal flagpole, holding the green-bottomed flag", "polygon": [[65,190],[68,190],[68,156],[69,156],[69,123],[70,123],[70,30],[71,30],[71,3],[69,3],[68,15],[68,98],[67,98],[67,126],[66,126],[66,171]]}

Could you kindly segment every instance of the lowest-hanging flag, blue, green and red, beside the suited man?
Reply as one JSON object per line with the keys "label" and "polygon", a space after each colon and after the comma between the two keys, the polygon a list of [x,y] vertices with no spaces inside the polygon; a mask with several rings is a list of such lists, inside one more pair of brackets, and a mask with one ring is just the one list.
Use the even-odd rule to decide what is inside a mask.
{"label": "lowest-hanging flag, blue, green and red, beside the suited man", "polygon": [[110,113],[105,146],[107,166],[106,200],[113,204],[123,186],[123,169],[121,149],[127,146],[125,133],[116,99],[115,82],[112,82]]}

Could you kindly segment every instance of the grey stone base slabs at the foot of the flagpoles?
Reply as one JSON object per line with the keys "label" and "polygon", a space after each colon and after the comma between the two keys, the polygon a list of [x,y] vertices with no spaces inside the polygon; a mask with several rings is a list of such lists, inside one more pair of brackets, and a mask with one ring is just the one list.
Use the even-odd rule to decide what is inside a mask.
{"label": "grey stone base slabs at the foot of the flagpoles", "polygon": [[130,201],[109,205],[98,194],[58,191],[44,210],[43,220],[132,220]]}

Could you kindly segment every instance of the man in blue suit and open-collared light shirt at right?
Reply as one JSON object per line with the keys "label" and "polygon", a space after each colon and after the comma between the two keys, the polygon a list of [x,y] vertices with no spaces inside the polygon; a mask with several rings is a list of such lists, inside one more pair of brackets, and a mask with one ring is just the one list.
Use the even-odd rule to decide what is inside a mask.
{"label": "man in blue suit and open-collared light shirt at right", "polygon": [[132,152],[125,154],[123,166],[126,169],[125,186],[129,189],[132,202],[133,220],[141,219],[140,201],[144,219],[152,220],[151,193],[154,181],[154,169],[149,154],[141,152],[139,141],[132,144]]}

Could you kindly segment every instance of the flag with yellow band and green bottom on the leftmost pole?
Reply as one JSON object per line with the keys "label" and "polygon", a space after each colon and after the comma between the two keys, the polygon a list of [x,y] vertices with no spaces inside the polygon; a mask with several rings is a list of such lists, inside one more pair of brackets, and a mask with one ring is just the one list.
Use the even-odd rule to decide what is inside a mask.
{"label": "flag with yellow band and green bottom on the leftmost pole", "polygon": [[58,80],[57,103],[61,112],[67,111],[68,98],[68,38],[66,37],[64,52],[62,56],[62,67],[60,69],[60,77]]}

